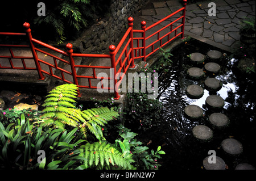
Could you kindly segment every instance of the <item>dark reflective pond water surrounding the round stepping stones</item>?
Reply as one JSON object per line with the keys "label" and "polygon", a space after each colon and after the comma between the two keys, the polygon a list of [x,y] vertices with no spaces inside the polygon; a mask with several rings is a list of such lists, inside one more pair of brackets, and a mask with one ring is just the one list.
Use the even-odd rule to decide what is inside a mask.
{"label": "dark reflective pond water surrounding the round stepping stones", "polygon": [[[216,155],[224,159],[227,169],[233,170],[239,163],[249,163],[256,166],[255,157],[255,83],[254,79],[246,78],[236,70],[236,59],[225,58],[221,65],[220,74],[216,76],[222,83],[222,89],[215,94],[225,100],[221,111],[230,119],[230,125],[223,129],[214,129],[208,121],[213,111],[205,106],[205,99],[210,93],[204,90],[200,99],[190,99],[185,89],[191,84],[204,86],[204,80],[192,81],[186,76],[186,71],[192,65],[188,55],[193,52],[207,54],[208,50],[219,50],[196,40],[183,44],[172,51],[174,66],[166,74],[160,74],[159,99],[163,102],[163,123],[156,134],[156,144],[162,145],[166,151],[163,155],[162,167],[168,170],[203,170],[203,159],[209,150],[215,150]],[[222,53],[227,53],[221,50]],[[191,121],[184,117],[184,108],[189,104],[196,104],[203,108],[204,117]],[[196,125],[207,125],[213,130],[213,138],[209,142],[196,140],[192,129]],[[221,141],[235,138],[243,145],[243,153],[232,156],[221,149]]]}

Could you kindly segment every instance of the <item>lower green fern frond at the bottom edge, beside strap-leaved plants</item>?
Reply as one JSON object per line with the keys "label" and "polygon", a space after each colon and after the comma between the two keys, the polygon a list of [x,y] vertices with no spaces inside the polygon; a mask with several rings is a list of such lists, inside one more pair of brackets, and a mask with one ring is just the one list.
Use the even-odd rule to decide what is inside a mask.
{"label": "lower green fern frond at the bottom edge, beside strap-leaved plants", "polygon": [[118,167],[118,169],[131,169],[134,162],[132,154],[124,155],[115,147],[105,141],[89,142],[80,146],[79,156],[84,157],[84,168],[97,167],[98,169],[111,169],[111,167]]}

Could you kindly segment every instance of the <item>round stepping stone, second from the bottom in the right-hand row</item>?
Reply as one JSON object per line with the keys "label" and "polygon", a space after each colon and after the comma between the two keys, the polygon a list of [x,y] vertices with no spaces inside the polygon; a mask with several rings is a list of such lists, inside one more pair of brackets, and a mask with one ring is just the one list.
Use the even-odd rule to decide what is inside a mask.
{"label": "round stepping stone, second from the bottom in the right-hand row", "polygon": [[221,148],[229,154],[238,155],[243,152],[243,146],[241,142],[234,138],[227,138],[221,142]]}

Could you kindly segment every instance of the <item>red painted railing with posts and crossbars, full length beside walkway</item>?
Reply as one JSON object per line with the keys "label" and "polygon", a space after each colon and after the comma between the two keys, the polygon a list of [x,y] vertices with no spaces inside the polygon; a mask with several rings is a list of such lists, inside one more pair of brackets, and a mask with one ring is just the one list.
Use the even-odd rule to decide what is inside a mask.
{"label": "red painted railing with posts and crossbars, full length beside walkway", "polygon": [[[158,22],[152,24],[149,27],[146,27],[146,22],[142,21],[142,30],[134,30],[133,18],[128,18],[129,28],[125,32],[125,35],[122,37],[121,41],[119,42],[116,48],[114,45],[109,46],[109,54],[73,53],[73,46],[70,43],[66,45],[67,52],[65,52],[63,50],[52,47],[51,45],[43,43],[42,41],[32,38],[30,24],[24,23],[23,27],[26,28],[26,33],[0,32],[0,35],[6,36],[27,36],[29,41],[29,45],[0,44],[0,48],[9,48],[10,52],[9,55],[0,54],[0,60],[1,58],[7,58],[10,64],[10,66],[2,66],[0,64],[0,69],[37,70],[40,80],[43,80],[45,78],[43,74],[47,74],[57,79],[60,79],[61,81],[67,83],[74,83],[80,88],[113,90],[114,99],[119,99],[120,96],[118,93],[118,87],[121,84],[122,78],[125,76],[127,69],[135,67],[135,59],[142,58],[143,61],[146,61],[146,58],[149,57],[152,53],[156,52],[159,49],[159,47],[163,47],[164,45],[175,39],[177,36],[181,35],[181,39],[183,39],[186,4],[187,0],[183,0],[183,7],[181,9],[166,16],[165,18],[159,20]],[[172,18],[174,15],[179,14],[180,12],[182,12],[182,15],[179,18],[176,18],[175,20],[168,22],[170,18]],[[179,22],[179,20],[181,20],[181,23],[175,24]],[[159,24],[161,23],[165,23],[163,28],[160,28],[160,30],[156,30],[155,32],[150,33],[150,30],[152,28],[159,26]],[[167,28],[170,28],[170,30],[167,30]],[[181,29],[180,32],[178,32],[179,28]],[[174,35],[172,35],[171,37],[172,32],[174,32]],[[141,37],[134,37],[134,35],[137,33],[141,34]],[[43,46],[44,48],[47,48],[47,50],[60,54],[60,56],[56,56],[52,53],[49,53],[49,51],[47,50],[37,48],[36,45]],[[15,56],[13,48],[30,48],[32,56]],[[44,54],[44,57],[51,57],[53,62],[43,60],[44,57],[42,56],[42,58],[40,58],[40,53]],[[98,66],[90,64],[76,65],[74,58],[78,57],[104,58],[104,61],[106,61],[107,64],[109,64],[109,66]],[[14,66],[13,59],[20,59],[22,61],[22,66]],[[35,67],[27,67],[26,62],[24,60],[34,60]],[[53,69],[55,71],[53,71]],[[77,71],[77,69],[86,69],[86,71]],[[100,71],[101,69],[112,69],[113,75],[107,75],[102,77],[97,76],[98,74],[96,73],[96,71]],[[88,70],[91,70],[90,73],[88,73]],[[56,71],[59,71],[60,75],[56,75]],[[83,75],[84,73],[88,74]],[[88,79],[88,82],[84,82],[84,79]],[[97,81],[96,86],[92,85],[92,79],[99,80],[100,86],[98,86],[99,82]],[[104,83],[102,83],[102,81],[106,79],[109,82],[114,81],[114,86],[104,86]]]}

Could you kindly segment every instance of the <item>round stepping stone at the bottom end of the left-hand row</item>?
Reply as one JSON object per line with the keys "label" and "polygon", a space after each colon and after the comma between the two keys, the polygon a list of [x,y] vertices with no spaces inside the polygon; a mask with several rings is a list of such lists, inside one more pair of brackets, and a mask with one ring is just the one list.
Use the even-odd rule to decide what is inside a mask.
{"label": "round stepping stone at the bottom end of the left-hand row", "polygon": [[203,160],[203,166],[206,170],[225,170],[226,169],[226,163],[224,160],[218,156],[216,156],[216,163],[212,163],[211,158],[210,161],[208,161],[209,157],[206,157]]}

